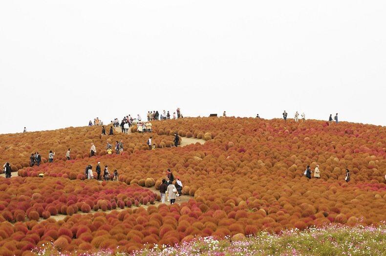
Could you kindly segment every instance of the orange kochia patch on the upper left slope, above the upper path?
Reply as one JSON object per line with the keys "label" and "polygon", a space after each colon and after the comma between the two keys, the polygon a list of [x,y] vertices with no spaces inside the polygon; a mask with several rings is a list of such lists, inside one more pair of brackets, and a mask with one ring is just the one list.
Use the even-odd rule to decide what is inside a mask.
{"label": "orange kochia patch on the upper left slope, above the upper path", "polygon": [[[105,126],[108,131],[109,126]],[[58,130],[36,131],[16,134],[0,134],[0,162],[9,162],[12,171],[29,166],[29,157],[33,152],[39,152],[42,163],[48,161],[48,152],[55,152],[54,161],[65,160],[65,154],[71,149],[71,159],[89,157],[91,143],[95,144],[97,156],[107,154],[107,141],[113,149],[116,141],[123,140],[124,154],[135,150],[149,149],[146,142],[150,136],[159,148],[171,147],[173,137],[159,136],[154,133],[124,134],[115,132],[114,135],[101,135],[101,126],[64,128]],[[113,150],[114,151],[114,150]],[[35,167],[36,168],[36,167]]]}

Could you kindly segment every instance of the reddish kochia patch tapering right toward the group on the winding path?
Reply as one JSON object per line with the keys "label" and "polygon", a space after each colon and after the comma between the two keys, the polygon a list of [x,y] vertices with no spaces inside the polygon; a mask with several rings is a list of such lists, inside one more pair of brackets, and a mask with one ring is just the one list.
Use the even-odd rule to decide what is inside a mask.
{"label": "reddish kochia patch tapering right toward the group on the winding path", "polygon": [[138,185],[96,180],[0,178],[0,214],[8,221],[38,220],[78,211],[107,211],[132,204],[153,204],[156,194]]}

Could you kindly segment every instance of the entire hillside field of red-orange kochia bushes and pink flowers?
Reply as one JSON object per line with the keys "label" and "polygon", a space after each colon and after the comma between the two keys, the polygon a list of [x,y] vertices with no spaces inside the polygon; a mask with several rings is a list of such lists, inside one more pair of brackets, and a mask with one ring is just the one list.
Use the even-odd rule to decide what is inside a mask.
{"label": "entire hillside field of red-orange kochia bushes and pink flowers", "polygon": [[[197,240],[209,236],[219,239],[217,245],[223,244],[219,255],[234,254],[249,245],[255,246],[249,250],[257,255],[307,255],[295,241],[306,234],[307,239],[321,243],[318,239],[327,235],[326,226],[339,234],[349,230],[367,234],[373,225],[385,236],[385,127],[226,117],[155,121],[153,132],[145,134],[133,127],[131,134],[101,136],[100,129],[0,135],[0,160],[10,162],[21,176],[0,178],[0,255],[29,255],[33,248],[51,243],[55,252],[108,251],[111,255],[160,255],[162,245],[175,244],[180,245],[167,250],[185,255],[179,250],[202,245],[206,248],[202,254],[216,255],[205,245],[209,240]],[[174,132],[182,140],[206,142],[174,148]],[[147,150],[150,135],[156,150]],[[107,155],[106,141],[121,139],[125,152]],[[97,147],[94,157],[88,156],[91,142]],[[64,159],[68,148],[71,160]],[[33,151],[43,155],[47,150],[56,151],[54,163],[28,166]],[[119,181],[85,180],[85,167],[97,162],[108,165],[110,172],[117,169]],[[321,178],[307,179],[303,175],[307,165],[312,170],[319,165]],[[159,204],[159,194],[147,189],[158,189],[167,169],[180,177],[182,193],[192,196],[188,202]],[[346,169],[351,174],[348,183]],[[43,178],[38,177],[41,173]],[[146,209],[132,205],[146,205]],[[55,214],[67,216],[55,221],[50,218]],[[301,233],[292,234],[291,240],[290,231],[295,229]],[[315,238],[312,232],[321,235]],[[292,247],[269,251],[272,245],[262,247],[261,237],[277,244],[287,241]],[[360,255],[341,245],[341,240],[336,242],[332,254],[341,250]],[[154,245],[157,248],[151,249]],[[364,247],[359,248],[358,252]]]}

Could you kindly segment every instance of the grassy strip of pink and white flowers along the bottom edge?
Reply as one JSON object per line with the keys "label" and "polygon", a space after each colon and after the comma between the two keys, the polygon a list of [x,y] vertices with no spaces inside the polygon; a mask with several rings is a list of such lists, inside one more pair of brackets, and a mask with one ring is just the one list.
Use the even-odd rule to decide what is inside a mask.
{"label": "grassy strip of pink and white flowers along the bottom edge", "polygon": [[[310,228],[307,231],[286,231],[281,235],[260,232],[255,236],[232,241],[230,237],[196,238],[189,243],[174,247],[146,245],[148,249],[133,253],[113,250],[88,252],[84,256],[255,256],[255,255],[320,255],[320,256],[363,256],[386,255],[386,225],[378,227],[348,227],[330,225]],[[116,250],[117,251],[117,250]],[[79,252],[59,253],[52,244],[34,250],[37,255],[79,255]]]}

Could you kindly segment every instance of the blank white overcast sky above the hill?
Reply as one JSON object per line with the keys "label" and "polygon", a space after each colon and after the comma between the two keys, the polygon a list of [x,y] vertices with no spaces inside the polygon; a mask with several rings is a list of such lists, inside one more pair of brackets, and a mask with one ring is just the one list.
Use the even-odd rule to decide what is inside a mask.
{"label": "blank white overcast sky above the hill", "polygon": [[148,110],[386,126],[384,0],[0,1],[0,133]]}

